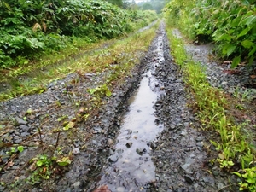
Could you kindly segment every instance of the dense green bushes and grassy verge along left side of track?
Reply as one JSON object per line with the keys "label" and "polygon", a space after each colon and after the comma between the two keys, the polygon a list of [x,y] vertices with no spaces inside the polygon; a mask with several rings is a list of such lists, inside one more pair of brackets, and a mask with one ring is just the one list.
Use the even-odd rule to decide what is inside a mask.
{"label": "dense green bushes and grassy verge along left side of track", "polygon": [[70,63],[157,19],[154,11],[102,1],[6,0],[0,7],[0,101],[44,92],[45,83],[78,70]]}

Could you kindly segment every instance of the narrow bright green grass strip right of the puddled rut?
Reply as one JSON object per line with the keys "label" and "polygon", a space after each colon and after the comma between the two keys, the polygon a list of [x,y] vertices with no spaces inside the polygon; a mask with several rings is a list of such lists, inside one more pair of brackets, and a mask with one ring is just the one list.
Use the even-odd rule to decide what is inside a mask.
{"label": "narrow bright green grass strip right of the puddled rut", "polygon": [[[243,179],[238,183],[240,190],[255,191],[255,150],[246,131],[242,131],[246,125],[235,122],[229,112],[232,103],[221,90],[208,84],[204,68],[189,58],[183,40],[173,36],[172,30],[168,31],[167,36],[171,41],[172,55],[176,63],[182,67],[189,92],[193,93],[194,103],[191,104],[191,108],[196,109],[202,128],[206,131],[216,131],[219,136],[219,141],[210,141],[218,150],[216,161],[221,168],[234,171],[234,174]],[[237,162],[241,169],[234,170]]]}

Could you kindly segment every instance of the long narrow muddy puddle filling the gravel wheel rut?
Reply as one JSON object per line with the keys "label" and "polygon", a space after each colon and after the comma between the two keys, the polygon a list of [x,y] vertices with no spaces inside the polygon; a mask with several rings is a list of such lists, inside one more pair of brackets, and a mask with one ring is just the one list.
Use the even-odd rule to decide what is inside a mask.
{"label": "long narrow muddy puddle filling the gravel wheel rut", "polygon": [[164,87],[154,77],[155,68],[163,63],[163,34],[155,39],[154,59],[148,63],[148,72],[137,91],[131,96],[129,111],[122,120],[117,143],[110,150],[108,166],[103,168],[98,186],[107,185],[116,192],[143,191],[155,180],[151,151],[156,147],[155,137],[163,125],[154,116],[154,103],[165,95]]}

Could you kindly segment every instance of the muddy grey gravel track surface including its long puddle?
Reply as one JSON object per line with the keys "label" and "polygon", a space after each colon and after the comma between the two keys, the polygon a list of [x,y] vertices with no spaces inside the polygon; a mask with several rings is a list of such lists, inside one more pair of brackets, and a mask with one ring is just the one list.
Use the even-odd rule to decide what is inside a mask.
{"label": "muddy grey gravel track surface including its long puddle", "polygon": [[[187,107],[189,93],[170,51],[165,24],[161,22],[140,65],[73,136],[51,133],[49,139],[47,133],[38,134],[37,128],[51,129],[51,118],[60,117],[63,110],[74,116],[73,108],[62,108],[60,112],[51,106],[57,98],[68,106],[70,98],[63,90],[67,90],[68,82],[78,78],[76,74],[49,84],[44,94],[2,102],[0,120],[11,116],[16,122],[15,128],[1,135],[2,141],[11,139],[26,147],[18,159],[14,156],[11,161],[3,158],[6,151],[1,150],[2,162],[12,165],[1,172],[1,182],[7,184],[2,184],[0,191],[236,191],[227,186],[236,183],[237,178],[208,163],[212,156],[206,143],[211,135],[198,129],[200,123]],[[101,74],[87,75],[90,81],[84,80],[70,89],[86,95],[86,88],[102,78]],[[83,100],[84,95],[79,99]],[[28,108],[34,113],[22,119]],[[46,115],[49,124],[41,125],[40,119]],[[72,164],[64,170],[53,170],[55,177],[42,183],[32,177],[28,180],[33,172],[29,160],[38,151],[44,151],[44,146],[26,143],[27,137],[33,137],[33,142],[44,141],[47,146],[59,140],[66,143],[68,147],[62,150],[71,152]],[[60,147],[52,145],[54,149]],[[15,183],[9,183],[11,180]]]}

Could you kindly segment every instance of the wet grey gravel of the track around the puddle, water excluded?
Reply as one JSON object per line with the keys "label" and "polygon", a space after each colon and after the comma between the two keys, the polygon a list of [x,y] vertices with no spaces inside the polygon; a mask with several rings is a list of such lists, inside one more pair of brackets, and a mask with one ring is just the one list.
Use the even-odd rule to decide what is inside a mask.
{"label": "wet grey gravel of the track around the puddle, water excluded", "polygon": [[[163,23],[156,32],[155,39],[160,35],[163,36],[160,44],[164,58],[155,67],[154,77],[158,82],[155,87],[159,89],[156,91],[160,93],[164,90],[164,94],[160,94],[154,103],[154,123],[163,125],[163,131],[154,141],[148,143],[151,148],[150,157],[155,166],[155,177],[149,183],[140,183],[137,189],[131,190],[129,185],[123,185],[120,191],[238,191],[236,186],[232,186],[232,189],[227,187],[230,183],[236,183],[237,177],[208,163],[208,160],[212,159],[212,153],[209,151],[214,151],[208,143],[212,136],[199,129],[198,119],[187,107],[189,101],[182,80],[183,75],[170,55]],[[7,184],[0,186],[0,191],[19,189],[33,192],[90,192],[99,187],[98,182],[104,172],[102,167],[118,161],[111,155],[115,153],[114,146],[117,143],[121,119],[128,109],[128,98],[139,87],[143,74],[155,62],[155,39],[147,55],[143,55],[141,64],[132,70],[132,75],[127,76],[123,84],[114,88],[111,97],[105,98],[102,108],[92,111],[86,121],[80,119],[73,131],[61,132],[60,145],[62,143],[64,146],[65,143],[61,151],[64,154],[73,154],[72,165],[68,166],[65,172],[55,174],[54,178],[43,183],[32,186],[25,182],[31,173],[28,161],[36,154],[42,154],[42,151],[49,153],[49,148],[55,147],[57,133],[54,130],[63,123],[58,119],[70,122],[78,117],[80,106],[90,108],[92,98],[88,88],[101,84],[106,73],[87,73],[82,76],[70,74],[66,79],[49,84],[48,91],[43,94],[1,102],[1,141],[24,145],[25,150],[19,154],[19,158],[12,160],[13,165],[6,166],[9,162],[9,155],[6,154],[9,147],[1,146],[0,165],[4,169],[0,179]],[[223,73],[224,70],[230,69],[228,65],[220,66],[207,59],[212,51],[209,46],[195,47],[188,44],[186,49],[196,61],[201,61],[206,66],[207,79],[212,86],[222,88],[230,94],[238,90],[242,95],[247,91],[247,98],[253,102],[256,91],[248,88],[247,84],[254,84],[254,79],[249,79],[251,73],[246,67],[240,68],[242,74],[247,74],[241,79],[234,74]],[[41,134],[38,133],[38,128],[42,131]],[[141,153],[139,150],[140,148],[134,153]],[[120,174],[119,177],[137,183],[131,176]],[[112,184],[118,183],[113,181]]]}

